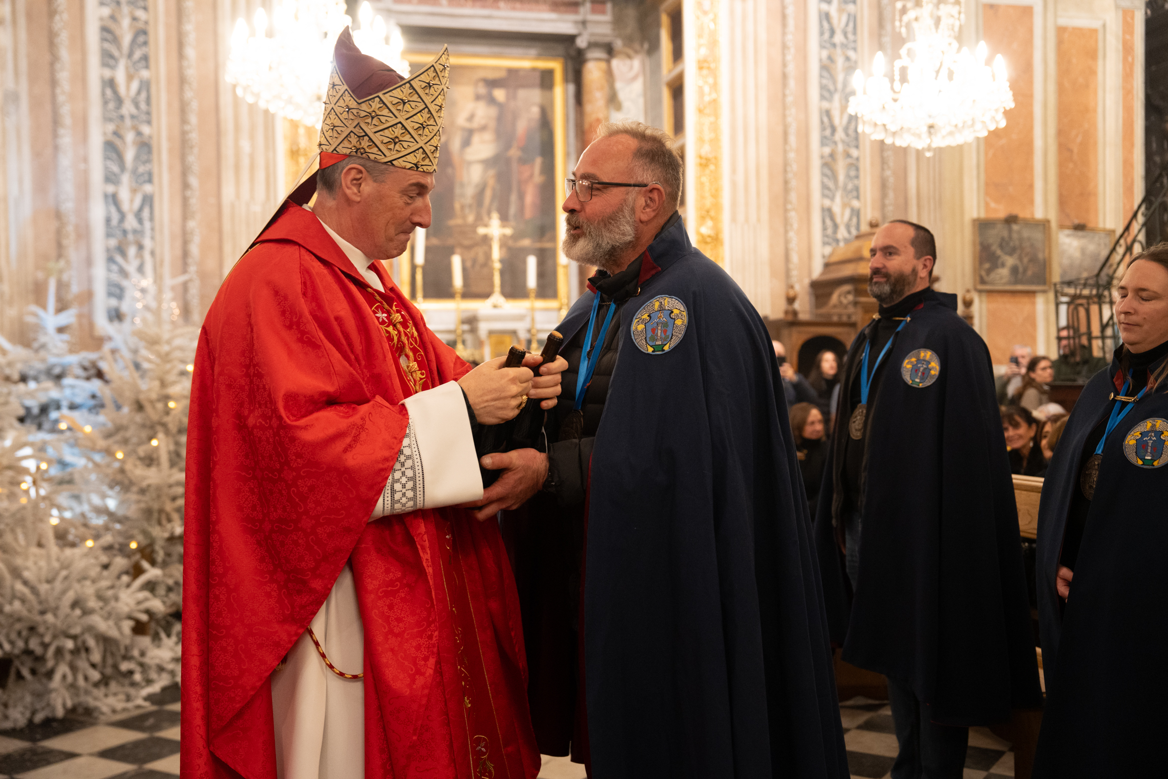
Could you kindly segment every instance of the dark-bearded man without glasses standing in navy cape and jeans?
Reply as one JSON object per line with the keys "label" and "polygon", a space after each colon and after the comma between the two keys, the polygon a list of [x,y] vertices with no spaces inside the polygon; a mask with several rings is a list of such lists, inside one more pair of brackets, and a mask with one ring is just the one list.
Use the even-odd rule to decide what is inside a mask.
{"label": "dark-bearded man without glasses standing in navy cape and jeans", "polygon": [[894,779],[960,779],[968,725],[1041,704],[1006,439],[932,232],[890,222],[870,257],[815,520],[832,639],[888,676]]}

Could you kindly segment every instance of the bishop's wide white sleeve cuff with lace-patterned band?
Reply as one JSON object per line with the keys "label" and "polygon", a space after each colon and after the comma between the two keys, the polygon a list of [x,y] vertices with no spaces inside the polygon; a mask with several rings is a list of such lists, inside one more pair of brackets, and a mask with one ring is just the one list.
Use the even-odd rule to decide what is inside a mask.
{"label": "bishop's wide white sleeve cuff with lace-patterned band", "polygon": [[410,423],[394,472],[370,520],[482,498],[466,399],[458,382],[418,392],[402,405]]}

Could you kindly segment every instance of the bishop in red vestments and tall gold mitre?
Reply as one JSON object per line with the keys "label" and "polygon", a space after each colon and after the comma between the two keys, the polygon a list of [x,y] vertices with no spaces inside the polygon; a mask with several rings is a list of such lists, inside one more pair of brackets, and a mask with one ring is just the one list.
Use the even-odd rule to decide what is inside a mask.
{"label": "bishop in red vestments and tall gold mitre", "polygon": [[[220,288],[187,451],[183,777],[523,779],[540,756],[479,424],[563,361],[471,370],[370,257],[429,227],[443,54],[338,41],[321,172]],[[387,131],[385,128],[389,127]],[[304,203],[321,189],[314,210]],[[368,252],[368,253],[367,253]],[[506,475],[488,498],[510,488]]]}

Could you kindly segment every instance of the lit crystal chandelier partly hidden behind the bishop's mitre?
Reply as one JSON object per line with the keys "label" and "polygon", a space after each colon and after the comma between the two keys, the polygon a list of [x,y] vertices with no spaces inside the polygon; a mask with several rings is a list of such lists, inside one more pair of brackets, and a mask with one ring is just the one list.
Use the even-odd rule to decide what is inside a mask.
{"label": "lit crystal chandelier partly hidden behind the bishop's mitre", "polygon": [[[361,28],[353,30],[357,48],[409,76],[410,65],[402,58],[405,43],[401,28],[374,16],[368,2],[361,4],[357,16]],[[319,130],[333,47],[350,23],[342,0],[274,0],[270,37],[263,7],[256,11],[255,35],[242,18],[236,21],[227,81],[249,103]]]}

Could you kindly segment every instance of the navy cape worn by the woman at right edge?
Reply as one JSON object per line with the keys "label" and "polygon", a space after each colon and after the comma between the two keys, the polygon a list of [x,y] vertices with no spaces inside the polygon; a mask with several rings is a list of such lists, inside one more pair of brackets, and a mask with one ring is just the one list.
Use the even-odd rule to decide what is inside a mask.
{"label": "navy cape worn by the woman at right edge", "polygon": [[[1154,363],[1149,373],[1162,364]],[[1121,389],[1118,360],[1091,378],[1075,403],[1042,489],[1037,585],[1047,711],[1036,778],[1161,771],[1160,738],[1168,726],[1159,705],[1168,693],[1168,458],[1143,467],[1132,462],[1124,447],[1141,423],[1168,419],[1163,383],[1149,388],[1107,438],[1065,604],[1055,589],[1083,447],[1111,412],[1108,396]]]}

